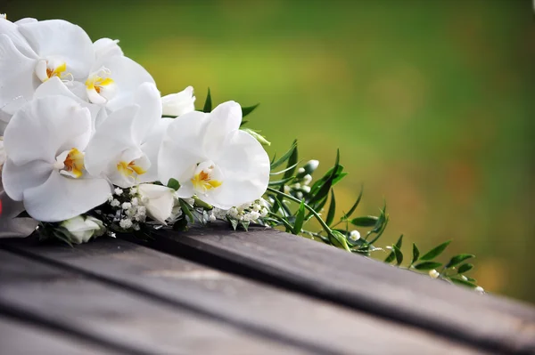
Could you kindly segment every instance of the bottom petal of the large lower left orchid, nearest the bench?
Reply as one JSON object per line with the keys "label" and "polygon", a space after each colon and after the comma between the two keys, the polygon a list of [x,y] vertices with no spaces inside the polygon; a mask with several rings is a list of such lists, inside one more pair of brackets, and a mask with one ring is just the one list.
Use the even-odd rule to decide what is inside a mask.
{"label": "bottom petal of the large lower left orchid, nearest the bench", "polygon": [[24,191],[24,206],[37,221],[60,222],[102,205],[110,193],[103,179],[71,179],[54,170],[45,183]]}

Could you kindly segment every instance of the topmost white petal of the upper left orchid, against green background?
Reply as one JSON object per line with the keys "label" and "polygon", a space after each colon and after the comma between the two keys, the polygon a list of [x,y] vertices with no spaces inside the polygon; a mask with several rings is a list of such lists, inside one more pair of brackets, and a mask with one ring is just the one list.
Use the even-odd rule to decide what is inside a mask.
{"label": "topmost white petal of the upper left orchid, against green background", "polygon": [[39,57],[60,59],[75,79],[86,79],[95,62],[95,50],[82,28],[66,20],[44,20],[23,23],[19,30]]}

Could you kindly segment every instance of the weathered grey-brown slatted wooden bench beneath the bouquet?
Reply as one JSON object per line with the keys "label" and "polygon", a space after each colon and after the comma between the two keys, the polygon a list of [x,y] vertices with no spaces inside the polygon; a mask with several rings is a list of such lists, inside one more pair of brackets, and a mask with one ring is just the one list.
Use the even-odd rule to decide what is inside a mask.
{"label": "weathered grey-brown slatted wooden bench beneath the bouquet", "polygon": [[535,309],[280,232],[0,239],[0,354],[535,354]]}

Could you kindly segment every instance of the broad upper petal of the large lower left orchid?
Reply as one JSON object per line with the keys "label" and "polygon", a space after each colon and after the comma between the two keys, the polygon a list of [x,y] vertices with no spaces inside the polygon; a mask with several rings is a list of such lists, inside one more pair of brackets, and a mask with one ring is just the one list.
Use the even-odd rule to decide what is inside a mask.
{"label": "broad upper petal of the large lower left orchid", "polygon": [[16,165],[33,160],[53,164],[65,150],[83,150],[91,136],[91,115],[65,96],[30,101],[5,129],[4,147]]}

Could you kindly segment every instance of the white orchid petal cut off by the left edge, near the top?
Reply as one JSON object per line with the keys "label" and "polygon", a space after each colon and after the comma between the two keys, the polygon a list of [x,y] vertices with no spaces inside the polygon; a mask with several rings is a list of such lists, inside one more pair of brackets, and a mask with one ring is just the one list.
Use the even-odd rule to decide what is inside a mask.
{"label": "white orchid petal cut off by the left edge, near the top", "polygon": [[34,76],[36,62],[22,54],[8,36],[0,35],[0,109],[12,115],[32,99],[41,84]]}

